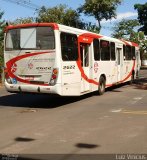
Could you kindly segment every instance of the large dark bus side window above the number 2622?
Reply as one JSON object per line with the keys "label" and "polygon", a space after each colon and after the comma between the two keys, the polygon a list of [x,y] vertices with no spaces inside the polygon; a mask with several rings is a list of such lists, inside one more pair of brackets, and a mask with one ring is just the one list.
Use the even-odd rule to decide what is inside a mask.
{"label": "large dark bus side window above the number 2622", "polygon": [[76,61],[78,59],[77,35],[62,32],[60,38],[62,60]]}

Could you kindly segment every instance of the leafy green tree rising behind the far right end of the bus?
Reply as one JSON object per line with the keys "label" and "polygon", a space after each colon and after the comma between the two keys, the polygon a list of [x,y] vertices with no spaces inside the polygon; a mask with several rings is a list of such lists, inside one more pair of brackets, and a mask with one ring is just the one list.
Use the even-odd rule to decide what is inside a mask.
{"label": "leafy green tree rising behind the far right end of the bus", "polygon": [[134,35],[136,33],[135,28],[139,26],[139,22],[137,19],[130,19],[126,20],[123,19],[119,23],[116,23],[113,27],[113,34],[112,37],[118,38],[118,39],[126,39],[130,41],[136,42],[136,39],[134,39]]}

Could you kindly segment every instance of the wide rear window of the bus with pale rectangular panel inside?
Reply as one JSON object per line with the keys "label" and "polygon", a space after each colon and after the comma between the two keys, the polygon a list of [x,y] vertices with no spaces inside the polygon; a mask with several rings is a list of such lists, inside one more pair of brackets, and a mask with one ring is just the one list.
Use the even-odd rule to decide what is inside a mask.
{"label": "wide rear window of the bus with pale rectangular panel inside", "polygon": [[54,30],[51,27],[11,29],[6,34],[5,50],[55,49]]}

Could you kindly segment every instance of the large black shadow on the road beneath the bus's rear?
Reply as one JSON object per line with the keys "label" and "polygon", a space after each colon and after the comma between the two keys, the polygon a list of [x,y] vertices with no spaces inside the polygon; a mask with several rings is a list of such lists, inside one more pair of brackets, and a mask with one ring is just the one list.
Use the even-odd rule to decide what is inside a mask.
{"label": "large black shadow on the road beneath the bus's rear", "polygon": [[11,94],[0,97],[0,107],[26,107],[26,108],[44,108],[51,109],[90,98],[92,94],[80,97],[60,97],[38,94]]}

